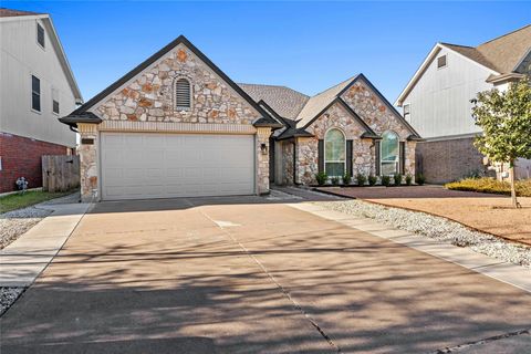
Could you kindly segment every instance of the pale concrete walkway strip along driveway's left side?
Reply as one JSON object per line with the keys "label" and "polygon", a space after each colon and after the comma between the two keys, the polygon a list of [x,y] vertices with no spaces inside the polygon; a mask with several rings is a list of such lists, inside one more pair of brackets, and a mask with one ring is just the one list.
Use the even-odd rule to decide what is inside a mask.
{"label": "pale concrete walkway strip along driveway's left side", "polygon": [[53,212],[0,251],[0,287],[29,287],[58,254],[90,204],[44,204]]}

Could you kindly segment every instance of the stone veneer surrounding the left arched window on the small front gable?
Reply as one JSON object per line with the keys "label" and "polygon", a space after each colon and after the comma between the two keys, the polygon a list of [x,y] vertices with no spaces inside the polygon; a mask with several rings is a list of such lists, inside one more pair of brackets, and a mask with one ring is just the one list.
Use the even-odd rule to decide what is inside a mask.
{"label": "stone veneer surrounding the left arched window on the small front gable", "polygon": [[353,171],[368,175],[374,173],[374,148],[372,139],[362,139],[360,136],[365,132],[361,124],[340,104],[332,105],[319,118],[316,118],[306,131],[314,137],[298,139],[298,168],[296,183],[311,185],[315,184],[317,173],[319,148],[317,140],[324,139],[330,128],[340,128],[346,139],[353,140]]}

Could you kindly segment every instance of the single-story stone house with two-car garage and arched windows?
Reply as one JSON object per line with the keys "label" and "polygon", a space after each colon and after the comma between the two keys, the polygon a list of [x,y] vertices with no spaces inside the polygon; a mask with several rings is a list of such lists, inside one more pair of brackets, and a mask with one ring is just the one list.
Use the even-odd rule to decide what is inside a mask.
{"label": "single-story stone house with two-car garage and arched windows", "polygon": [[84,200],[269,192],[415,171],[418,134],[363,75],[314,97],[236,84],[179,37],[70,115]]}

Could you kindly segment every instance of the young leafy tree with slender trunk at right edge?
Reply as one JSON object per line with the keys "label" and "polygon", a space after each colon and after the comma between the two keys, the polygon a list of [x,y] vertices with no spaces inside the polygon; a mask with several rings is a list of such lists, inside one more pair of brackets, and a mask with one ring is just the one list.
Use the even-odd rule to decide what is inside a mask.
{"label": "young leafy tree with slender trunk at right edge", "polygon": [[531,158],[531,85],[521,80],[506,92],[490,90],[472,100],[472,116],[483,131],[475,146],[489,160],[509,164],[512,206],[519,206],[514,190],[514,162]]}

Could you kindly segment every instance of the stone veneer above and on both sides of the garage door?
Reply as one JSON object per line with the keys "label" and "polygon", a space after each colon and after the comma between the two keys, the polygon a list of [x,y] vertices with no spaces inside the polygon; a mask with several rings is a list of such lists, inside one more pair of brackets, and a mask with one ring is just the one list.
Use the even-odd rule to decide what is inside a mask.
{"label": "stone veneer above and on both sides of the garage door", "polygon": [[[174,83],[186,77],[191,84],[192,106],[189,111],[174,108]],[[219,77],[208,65],[180,44],[153,67],[146,69],[125,87],[90,110],[100,116],[102,125],[79,124],[82,138],[94,139],[93,145],[80,146],[82,199],[91,201],[98,188],[98,129],[105,122],[125,124],[124,132],[183,133],[176,124],[197,124],[194,133],[231,133],[235,125],[244,126],[239,131],[254,131],[252,122],[260,117],[246,100]],[[154,127],[154,124],[156,126]],[[212,126],[211,129],[206,125]],[[227,128],[220,128],[223,125]],[[113,129],[119,131],[119,129]],[[189,127],[186,132],[191,131]],[[260,144],[268,144],[270,128],[259,128],[257,137],[257,185],[259,192],[269,190],[269,159],[263,159]],[[241,133],[241,132],[239,132]],[[250,133],[252,134],[252,133]]]}

